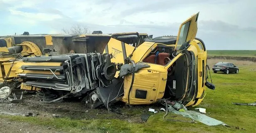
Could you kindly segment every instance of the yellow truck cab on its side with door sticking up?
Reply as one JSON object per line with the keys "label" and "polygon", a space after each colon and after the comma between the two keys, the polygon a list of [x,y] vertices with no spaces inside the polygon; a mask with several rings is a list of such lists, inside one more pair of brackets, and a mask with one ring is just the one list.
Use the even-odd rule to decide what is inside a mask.
{"label": "yellow truck cab on its side with door sticking up", "polygon": [[152,104],[162,98],[185,106],[202,102],[207,51],[204,42],[195,38],[198,15],[183,22],[178,36],[170,39],[147,38],[136,48],[110,39],[104,52],[113,54],[111,62],[124,64],[115,76],[124,78],[123,102]]}

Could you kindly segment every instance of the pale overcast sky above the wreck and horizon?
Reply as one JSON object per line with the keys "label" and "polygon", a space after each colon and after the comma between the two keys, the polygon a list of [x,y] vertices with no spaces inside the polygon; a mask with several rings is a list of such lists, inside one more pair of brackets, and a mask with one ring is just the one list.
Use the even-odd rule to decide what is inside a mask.
{"label": "pale overcast sky above the wreck and horizon", "polygon": [[0,36],[59,34],[74,24],[103,33],[177,35],[200,12],[207,49],[256,50],[256,0],[0,0]]}

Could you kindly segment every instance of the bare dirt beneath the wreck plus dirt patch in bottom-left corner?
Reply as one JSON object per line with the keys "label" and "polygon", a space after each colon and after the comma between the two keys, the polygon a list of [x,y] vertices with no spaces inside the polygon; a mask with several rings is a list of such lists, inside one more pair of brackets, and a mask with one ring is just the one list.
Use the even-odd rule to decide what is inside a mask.
{"label": "bare dirt beneath the wreck plus dirt patch in bottom-left corner", "polygon": [[[108,112],[104,107],[99,109],[88,109],[82,102],[64,99],[63,102],[44,104],[36,94],[24,94],[23,102],[0,103],[0,115],[19,115],[25,117],[49,117],[49,118],[71,118],[71,119],[121,119],[130,123],[143,123],[140,116],[148,112],[149,108],[160,111],[159,105],[136,106],[136,111],[130,109],[123,102],[117,103],[116,107],[120,113]],[[22,126],[20,126],[22,125]],[[24,126],[23,126],[24,125]],[[27,128],[30,127],[30,128]],[[50,128],[50,129],[49,129]],[[20,131],[21,129],[21,131]],[[10,121],[8,118],[0,118],[0,133],[61,133],[54,127],[47,125],[31,125],[25,122]]]}

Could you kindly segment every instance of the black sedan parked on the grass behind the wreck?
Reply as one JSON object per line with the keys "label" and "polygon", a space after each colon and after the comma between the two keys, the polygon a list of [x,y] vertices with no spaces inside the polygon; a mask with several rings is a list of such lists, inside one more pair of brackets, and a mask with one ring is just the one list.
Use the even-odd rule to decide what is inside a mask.
{"label": "black sedan parked on the grass behind the wreck", "polygon": [[239,72],[239,68],[236,65],[234,65],[232,63],[229,63],[229,62],[219,62],[219,63],[216,63],[212,67],[212,70],[213,70],[214,73],[224,72],[226,74],[238,73]]}

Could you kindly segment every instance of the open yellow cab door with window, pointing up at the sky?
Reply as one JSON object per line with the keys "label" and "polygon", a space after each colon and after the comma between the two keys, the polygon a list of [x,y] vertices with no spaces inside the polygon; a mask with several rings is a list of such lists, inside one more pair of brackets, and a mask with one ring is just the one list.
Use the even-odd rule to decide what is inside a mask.
{"label": "open yellow cab door with window, pointing up at the sky", "polygon": [[177,36],[177,41],[175,44],[175,50],[181,50],[182,44],[187,41],[192,41],[195,39],[197,34],[197,19],[199,12],[192,15],[185,22],[180,25],[180,29]]}

